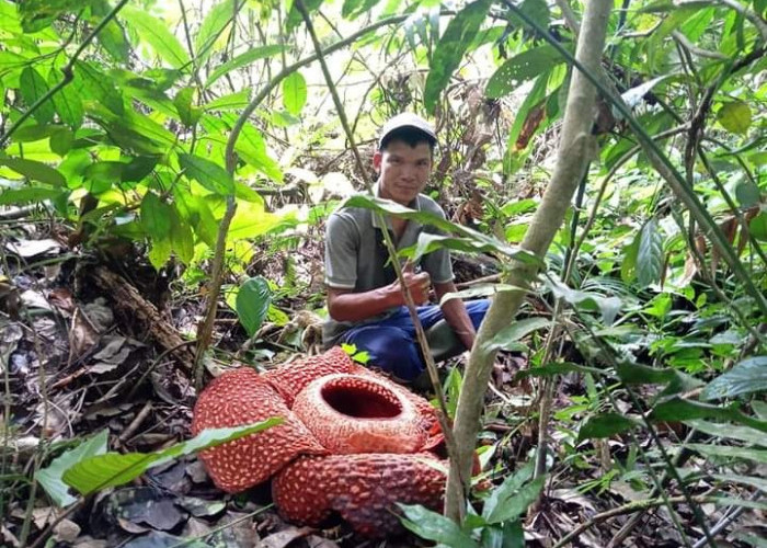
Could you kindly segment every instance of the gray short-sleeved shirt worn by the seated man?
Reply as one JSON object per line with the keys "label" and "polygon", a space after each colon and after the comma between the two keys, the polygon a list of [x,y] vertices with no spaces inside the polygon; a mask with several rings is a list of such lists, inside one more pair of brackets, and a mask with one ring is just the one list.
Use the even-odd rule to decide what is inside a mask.
{"label": "gray short-sleeved shirt worn by the seated man", "polygon": [[[378,194],[377,186],[374,191]],[[445,218],[442,207],[424,194],[419,194],[409,207]],[[391,232],[391,219],[388,217],[387,228]],[[389,285],[397,279],[394,269],[389,263],[389,253],[384,243],[381,229],[376,215],[370,209],[342,206],[331,214],[325,228],[325,284],[329,287],[364,293]],[[415,244],[421,232],[442,233],[435,227],[410,220],[397,242],[397,250]],[[453,266],[447,249],[438,249],[423,255],[417,265],[428,273],[433,283],[453,281]],[[323,324],[323,343],[325,347],[332,346],[350,328],[378,321],[394,310],[358,322],[330,319]]]}

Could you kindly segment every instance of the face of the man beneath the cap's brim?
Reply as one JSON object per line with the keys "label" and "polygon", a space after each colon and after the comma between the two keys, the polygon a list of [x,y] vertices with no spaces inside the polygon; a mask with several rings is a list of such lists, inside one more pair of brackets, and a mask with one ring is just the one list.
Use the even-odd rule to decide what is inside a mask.
{"label": "face of the man beneath the cap's brim", "polygon": [[432,172],[432,149],[428,142],[414,148],[401,140],[390,141],[373,157],[380,175],[380,197],[408,205],[426,186]]}

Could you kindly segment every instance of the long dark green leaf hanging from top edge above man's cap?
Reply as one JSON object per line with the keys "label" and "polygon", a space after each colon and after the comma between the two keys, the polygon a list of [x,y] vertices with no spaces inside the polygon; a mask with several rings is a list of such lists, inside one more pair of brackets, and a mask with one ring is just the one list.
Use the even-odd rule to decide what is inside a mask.
{"label": "long dark green leaf hanging from top edge above man's cap", "polygon": [[477,0],[467,4],[450,20],[434,48],[430,62],[426,85],[423,92],[426,112],[434,114],[439,93],[450,81],[453,72],[460,65],[463,54],[473,42],[484,21],[492,0]]}

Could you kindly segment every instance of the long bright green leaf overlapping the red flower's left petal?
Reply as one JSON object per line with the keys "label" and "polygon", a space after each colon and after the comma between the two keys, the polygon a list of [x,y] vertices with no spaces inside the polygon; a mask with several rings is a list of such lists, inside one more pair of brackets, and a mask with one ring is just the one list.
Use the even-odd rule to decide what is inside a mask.
{"label": "long bright green leaf overlapping the red flower's left petal", "polygon": [[138,478],[153,466],[255,434],[282,423],[273,418],[254,424],[229,429],[204,430],[197,436],[156,453],[107,453],[82,460],[64,473],[64,481],[80,494],[90,494]]}

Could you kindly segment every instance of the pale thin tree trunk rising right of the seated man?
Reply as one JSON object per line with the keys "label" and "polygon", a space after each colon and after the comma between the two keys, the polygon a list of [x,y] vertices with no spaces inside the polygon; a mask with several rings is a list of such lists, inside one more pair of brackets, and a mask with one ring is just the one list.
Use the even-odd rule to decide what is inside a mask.
{"label": "pale thin tree trunk rising right of the seated man", "polygon": [[[575,58],[592,73],[599,73],[599,60],[605,45],[607,19],[613,7],[611,0],[588,0],[583,14],[583,24],[577,42]],[[573,194],[595,151],[592,136],[596,90],[577,70],[573,70],[568,94],[568,105],[560,136],[557,165],[551,182],[543,194],[543,199],[527,229],[522,248],[538,258],[543,258],[564,220]],[[512,286],[528,287],[536,269],[514,263],[505,282]],[[493,300],[488,315],[477,333],[477,341],[471,351],[466,369],[456,411],[455,437],[458,446],[460,477],[471,477],[471,464],[477,433],[480,426],[484,392],[495,358],[495,352],[486,349],[486,341],[513,321],[525,296],[522,290],[502,292]],[[453,493],[458,492],[454,482],[460,477],[448,476],[446,512],[453,520],[458,520],[465,501],[457,500]],[[468,487],[468,486],[465,486]],[[468,492],[468,491],[466,491]]]}

